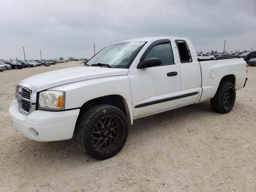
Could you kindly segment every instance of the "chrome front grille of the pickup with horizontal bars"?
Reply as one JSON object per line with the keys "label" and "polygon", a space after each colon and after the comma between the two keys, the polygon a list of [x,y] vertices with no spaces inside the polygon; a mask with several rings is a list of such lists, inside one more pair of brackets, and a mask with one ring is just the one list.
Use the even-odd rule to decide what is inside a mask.
{"label": "chrome front grille of the pickup with horizontal bars", "polygon": [[23,114],[30,114],[36,110],[36,88],[32,85],[20,82],[16,86],[16,102],[18,110]]}

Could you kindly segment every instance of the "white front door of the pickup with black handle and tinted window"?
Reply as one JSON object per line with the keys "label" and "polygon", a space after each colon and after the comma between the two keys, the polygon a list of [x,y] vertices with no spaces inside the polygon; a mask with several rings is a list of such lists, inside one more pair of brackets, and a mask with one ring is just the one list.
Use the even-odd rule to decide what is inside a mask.
{"label": "white front door of the pickup with black handle and tinted window", "polygon": [[145,53],[144,59],[160,58],[162,64],[128,72],[134,118],[178,107],[181,99],[180,68],[170,40],[154,42]]}

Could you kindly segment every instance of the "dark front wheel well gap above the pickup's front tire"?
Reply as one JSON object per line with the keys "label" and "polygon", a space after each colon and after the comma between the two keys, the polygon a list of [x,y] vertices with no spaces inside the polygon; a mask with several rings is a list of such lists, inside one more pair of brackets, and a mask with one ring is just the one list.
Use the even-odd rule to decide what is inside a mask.
{"label": "dark front wheel well gap above the pickup's front tire", "polygon": [[102,96],[102,97],[94,98],[92,100],[85,102],[80,108],[79,116],[84,114],[84,112],[86,112],[88,109],[100,104],[115,106],[120,110],[122,110],[124,114],[127,116],[126,108],[124,104],[124,98],[120,95]]}

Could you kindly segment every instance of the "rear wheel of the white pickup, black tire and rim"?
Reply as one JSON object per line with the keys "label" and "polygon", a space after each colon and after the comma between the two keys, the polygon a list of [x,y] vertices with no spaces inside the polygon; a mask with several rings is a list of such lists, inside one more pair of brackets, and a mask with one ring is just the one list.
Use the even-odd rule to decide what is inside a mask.
{"label": "rear wheel of the white pickup, black tire and rim", "polygon": [[215,112],[224,114],[232,110],[235,101],[236,89],[234,84],[231,82],[220,82],[214,98],[211,98],[211,107]]}

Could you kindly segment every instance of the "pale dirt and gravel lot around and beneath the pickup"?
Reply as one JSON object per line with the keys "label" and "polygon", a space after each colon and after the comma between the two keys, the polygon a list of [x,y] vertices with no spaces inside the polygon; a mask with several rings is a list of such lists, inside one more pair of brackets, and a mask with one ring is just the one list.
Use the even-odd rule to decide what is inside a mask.
{"label": "pale dirt and gravel lot around and beneath the pickup", "polygon": [[1,192],[256,191],[256,67],[230,113],[203,102],[135,120],[123,150],[97,161],[71,140],[36,142],[10,126],[17,82],[71,66],[82,63],[0,72]]}

